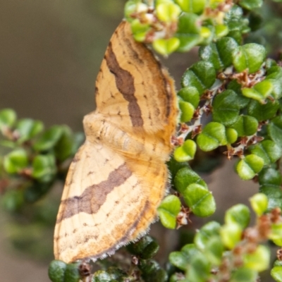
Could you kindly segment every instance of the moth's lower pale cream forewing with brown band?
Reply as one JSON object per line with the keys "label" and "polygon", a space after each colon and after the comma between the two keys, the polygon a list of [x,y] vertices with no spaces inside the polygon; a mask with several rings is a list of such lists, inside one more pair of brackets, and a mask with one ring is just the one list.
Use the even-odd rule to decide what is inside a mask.
{"label": "moth's lower pale cream forewing with brown band", "polygon": [[139,178],[125,159],[85,142],[69,168],[56,221],[56,259],[104,257],[132,238],[147,205]]}

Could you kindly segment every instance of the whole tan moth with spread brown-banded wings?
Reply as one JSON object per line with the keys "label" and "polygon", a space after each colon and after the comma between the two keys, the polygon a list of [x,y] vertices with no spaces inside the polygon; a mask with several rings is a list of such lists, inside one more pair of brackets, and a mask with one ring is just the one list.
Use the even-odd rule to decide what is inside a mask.
{"label": "whole tan moth with spread brown-banded wings", "polygon": [[144,235],[168,184],[174,82],[125,21],[106,49],[95,97],[56,219],[54,255],[66,263],[112,255]]}

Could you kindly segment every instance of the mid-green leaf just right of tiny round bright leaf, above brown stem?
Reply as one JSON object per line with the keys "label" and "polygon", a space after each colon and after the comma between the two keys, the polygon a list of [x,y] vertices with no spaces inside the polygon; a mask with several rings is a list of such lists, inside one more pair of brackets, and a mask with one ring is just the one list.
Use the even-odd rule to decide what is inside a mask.
{"label": "mid-green leaf just right of tiny round bright leaf, above brown stem", "polygon": [[252,116],[239,116],[238,121],[231,125],[237,131],[239,137],[255,134],[258,126],[257,119]]}

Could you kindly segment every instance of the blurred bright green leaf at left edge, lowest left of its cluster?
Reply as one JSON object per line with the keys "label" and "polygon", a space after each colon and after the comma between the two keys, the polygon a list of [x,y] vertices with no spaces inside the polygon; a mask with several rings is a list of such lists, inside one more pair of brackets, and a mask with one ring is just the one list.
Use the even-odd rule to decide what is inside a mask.
{"label": "blurred bright green leaf at left edge, lowest left of its cluster", "polygon": [[19,173],[28,165],[27,152],[24,149],[15,149],[6,154],[3,161],[4,169],[7,173]]}

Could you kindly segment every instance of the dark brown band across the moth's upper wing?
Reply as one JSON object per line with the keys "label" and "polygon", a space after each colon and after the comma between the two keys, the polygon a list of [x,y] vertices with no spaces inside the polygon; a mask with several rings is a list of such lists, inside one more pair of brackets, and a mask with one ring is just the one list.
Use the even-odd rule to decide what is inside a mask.
{"label": "dark brown band across the moth's upper wing", "polygon": [[109,43],[105,59],[109,71],[115,75],[118,91],[121,92],[124,99],[129,102],[128,111],[131,123],[135,127],[143,126],[144,121],[141,116],[141,109],[134,95],[135,86],[133,75],[119,66],[118,61],[116,60],[116,55],[112,49],[111,42]]}

